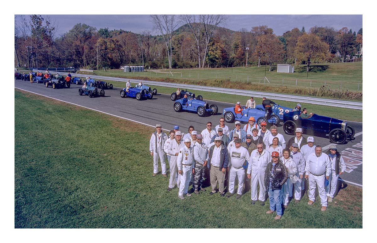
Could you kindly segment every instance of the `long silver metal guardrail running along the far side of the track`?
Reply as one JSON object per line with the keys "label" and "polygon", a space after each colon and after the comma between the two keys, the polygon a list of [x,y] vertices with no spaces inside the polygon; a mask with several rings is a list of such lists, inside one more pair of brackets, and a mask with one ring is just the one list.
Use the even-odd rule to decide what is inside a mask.
{"label": "long silver metal guardrail running along the far side of the track", "polygon": [[[33,71],[35,72],[35,71],[41,71],[41,70],[34,69]],[[56,72],[51,71],[51,73],[56,73]],[[63,72],[59,72],[59,74],[67,75],[67,73],[63,73]],[[71,75],[76,76],[76,77],[83,77],[83,78],[88,76],[84,74],[71,74]],[[142,81],[143,84],[145,85],[193,89],[193,90],[199,90],[199,91],[208,91],[208,92],[216,92],[216,93],[223,93],[223,94],[236,94],[236,95],[243,95],[243,96],[249,96],[249,97],[250,96],[256,96],[256,97],[265,96],[273,100],[302,102],[302,103],[324,105],[324,106],[336,106],[340,108],[349,108],[349,109],[356,109],[356,110],[363,109],[362,102],[352,102],[352,101],[346,101],[346,100],[331,100],[331,99],[314,98],[314,97],[307,97],[307,96],[295,96],[295,95],[287,95],[287,94],[248,91],[248,90],[243,90],[243,89],[226,89],[226,88],[217,88],[217,87],[209,87],[209,86],[185,85],[185,84],[178,84],[178,83],[139,80],[139,79],[131,79],[131,78],[115,78],[115,77],[106,77],[106,76],[98,76],[98,75],[90,75],[90,77],[97,78],[97,79],[111,80],[111,81],[119,81],[119,82],[127,82],[127,80],[130,80],[131,82],[139,83],[140,81]]]}

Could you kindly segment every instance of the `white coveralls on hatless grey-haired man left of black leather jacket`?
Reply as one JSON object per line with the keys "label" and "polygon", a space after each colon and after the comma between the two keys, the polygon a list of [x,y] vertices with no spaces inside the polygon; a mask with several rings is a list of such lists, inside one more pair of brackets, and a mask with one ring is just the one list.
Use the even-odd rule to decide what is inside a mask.
{"label": "white coveralls on hatless grey-haired man left of black leather jacket", "polygon": [[271,154],[267,150],[263,150],[259,154],[255,149],[250,154],[250,163],[247,167],[247,174],[251,174],[251,200],[258,200],[257,185],[259,183],[259,201],[265,201],[266,188],[264,185],[264,172],[267,164],[271,161]]}

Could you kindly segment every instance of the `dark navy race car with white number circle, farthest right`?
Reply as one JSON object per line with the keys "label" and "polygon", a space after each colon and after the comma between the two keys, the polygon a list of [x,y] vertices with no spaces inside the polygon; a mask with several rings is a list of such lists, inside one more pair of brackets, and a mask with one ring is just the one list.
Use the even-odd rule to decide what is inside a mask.
{"label": "dark navy race car with white number circle, farthest right", "polygon": [[331,143],[342,144],[352,139],[355,135],[353,128],[346,121],[331,117],[313,114],[308,118],[302,118],[300,111],[284,114],[283,129],[286,134],[293,135],[296,128],[302,128],[302,132],[318,137],[328,137]]}

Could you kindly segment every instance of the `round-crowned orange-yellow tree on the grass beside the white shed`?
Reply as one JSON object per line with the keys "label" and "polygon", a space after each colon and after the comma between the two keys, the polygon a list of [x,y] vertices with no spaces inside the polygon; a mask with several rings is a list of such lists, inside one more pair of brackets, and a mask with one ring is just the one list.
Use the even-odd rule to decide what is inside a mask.
{"label": "round-crowned orange-yellow tree on the grass beside the white shed", "polygon": [[307,72],[312,59],[325,59],[328,54],[328,44],[322,42],[315,34],[303,34],[297,40],[294,50],[299,60],[304,60],[307,64]]}

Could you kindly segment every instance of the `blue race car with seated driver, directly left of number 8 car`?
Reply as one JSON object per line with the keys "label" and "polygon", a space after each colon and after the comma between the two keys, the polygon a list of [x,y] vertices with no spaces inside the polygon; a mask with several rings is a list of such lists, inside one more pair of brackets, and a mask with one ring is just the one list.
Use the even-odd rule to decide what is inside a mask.
{"label": "blue race car with seated driver, directly left of number 8 car", "polygon": [[176,100],[174,103],[174,110],[176,112],[181,111],[194,111],[199,117],[204,117],[205,115],[216,115],[218,108],[216,105],[208,106],[207,102],[198,100],[196,98],[191,98],[187,101],[187,105],[182,102],[183,99]]}

